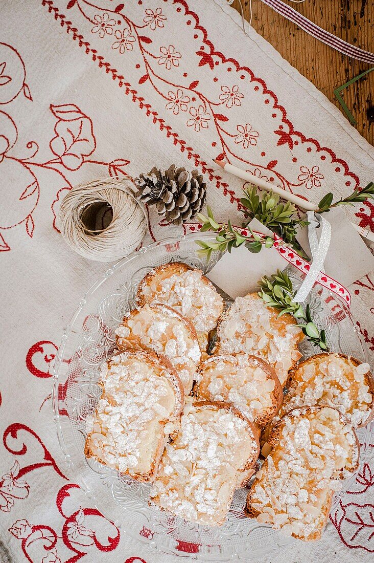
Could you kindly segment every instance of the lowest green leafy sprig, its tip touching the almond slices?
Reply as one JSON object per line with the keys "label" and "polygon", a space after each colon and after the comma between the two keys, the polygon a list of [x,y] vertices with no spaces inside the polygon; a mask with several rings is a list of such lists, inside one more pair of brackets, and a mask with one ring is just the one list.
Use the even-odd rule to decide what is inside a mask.
{"label": "lowest green leafy sprig, its tip touching the almond slices", "polygon": [[328,351],[325,330],[318,330],[316,324],[313,323],[309,305],[304,310],[300,303],[293,301],[296,291],[294,291],[292,282],[285,272],[278,270],[277,274],[271,278],[264,276],[259,282],[259,288],[259,296],[267,306],[280,311],[278,316],[286,313],[293,315],[308,341],[315,346],[319,346],[323,352]]}

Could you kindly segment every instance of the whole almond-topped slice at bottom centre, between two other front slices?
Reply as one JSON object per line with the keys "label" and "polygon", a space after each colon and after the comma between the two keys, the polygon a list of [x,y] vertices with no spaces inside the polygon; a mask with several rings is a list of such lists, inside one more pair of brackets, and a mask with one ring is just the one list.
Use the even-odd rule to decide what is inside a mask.
{"label": "whole almond-topped slice at bottom centre, between two other front slices", "polygon": [[177,439],[166,445],[151,504],[192,522],[220,526],[258,454],[254,426],[232,405],[188,401]]}

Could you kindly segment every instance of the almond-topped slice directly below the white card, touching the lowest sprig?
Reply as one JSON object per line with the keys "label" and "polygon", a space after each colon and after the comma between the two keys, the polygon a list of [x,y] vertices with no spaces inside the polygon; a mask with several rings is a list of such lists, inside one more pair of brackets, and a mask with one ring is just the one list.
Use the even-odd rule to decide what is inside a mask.
{"label": "almond-topped slice directly below the white card, touching the lowest sprig", "polygon": [[304,338],[296,320],[289,314],[267,307],[257,293],[237,297],[218,320],[214,354],[246,352],[267,360],[281,385],[287,373],[301,358],[298,344]]}

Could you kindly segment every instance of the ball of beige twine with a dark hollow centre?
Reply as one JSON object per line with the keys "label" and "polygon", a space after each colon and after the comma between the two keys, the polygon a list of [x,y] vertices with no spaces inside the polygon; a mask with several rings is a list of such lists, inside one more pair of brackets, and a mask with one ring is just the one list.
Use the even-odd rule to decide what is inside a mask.
{"label": "ball of beige twine with a dark hollow centre", "polygon": [[147,230],[145,205],[129,180],[100,178],[73,187],[62,200],[58,222],[75,252],[111,262],[134,251]]}

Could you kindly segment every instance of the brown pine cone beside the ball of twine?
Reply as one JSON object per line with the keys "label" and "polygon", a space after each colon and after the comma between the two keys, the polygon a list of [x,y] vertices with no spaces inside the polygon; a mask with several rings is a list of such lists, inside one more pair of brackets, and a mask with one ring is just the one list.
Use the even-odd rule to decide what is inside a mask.
{"label": "brown pine cone beside the ball of twine", "polygon": [[206,184],[197,170],[188,172],[172,164],[165,172],[156,167],[134,179],[135,194],[142,202],[156,205],[157,213],[174,225],[193,219],[205,204]]}

